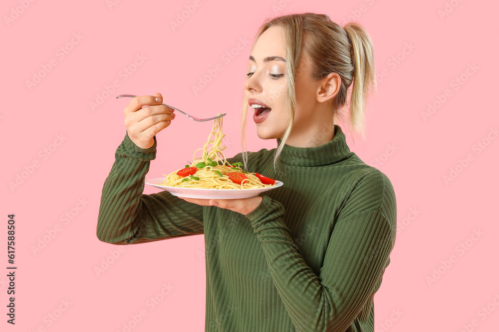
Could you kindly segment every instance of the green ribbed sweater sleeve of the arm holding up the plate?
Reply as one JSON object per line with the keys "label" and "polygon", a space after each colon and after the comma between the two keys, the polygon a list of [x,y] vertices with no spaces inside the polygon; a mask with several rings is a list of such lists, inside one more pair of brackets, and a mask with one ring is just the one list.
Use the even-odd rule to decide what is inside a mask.
{"label": "green ribbed sweater sleeve of the arm holding up the plate", "polygon": [[374,174],[357,183],[335,220],[319,275],[294,244],[281,203],[263,196],[246,215],[297,331],[346,331],[377,290],[395,242],[396,202],[388,178]]}

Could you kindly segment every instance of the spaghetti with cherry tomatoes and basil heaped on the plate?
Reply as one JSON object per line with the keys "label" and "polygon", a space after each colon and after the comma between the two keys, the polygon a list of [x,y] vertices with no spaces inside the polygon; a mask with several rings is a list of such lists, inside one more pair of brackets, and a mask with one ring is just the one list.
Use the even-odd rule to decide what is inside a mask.
{"label": "spaghetti with cherry tomatoes and basil heaped on the plate", "polygon": [[[215,119],[212,132],[208,136],[208,141],[203,148],[199,148],[194,152],[191,166],[186,165],[184,169],[179,169],[168,175],[163,174],[165,180],[163,183],[159,183],[159,185],[199,189],[254,189],[274,187],[275,180],[265,178],[257,173],[245,172],[242,169],[242,163],[231,165],[227,161],[222,153],[227,148],[226,146],[222,146],[222,138],[225,136],[222,133],[222,124],[223,116]],[[214,136],[213,139],[212,136]],[[211,144],[210,147],[208,147],[209,144]],[[196,158],[196,153],[199,150],[203,150],[203,155],[200,158]],[[190,171],[189,174],[187,174],[188,171]],[[183,176],[178,173],[181,173]],[[263,181],[269,184],[262,183],[260,178],[263,178]],[[238,180],[240,184],[237,183]]]}

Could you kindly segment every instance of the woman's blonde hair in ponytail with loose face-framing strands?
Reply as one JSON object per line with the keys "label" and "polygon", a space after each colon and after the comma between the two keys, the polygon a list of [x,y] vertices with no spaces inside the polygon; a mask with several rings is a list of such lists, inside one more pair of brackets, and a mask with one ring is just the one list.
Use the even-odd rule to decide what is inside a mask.
{"label": "woman's blonde hair in ponytail with loose face-framing strands", "polygon": [[[260,26],[251,51],[258,37],[271,26],[280,26],[284,30],[287,107],[290,121],[281,137],[281,142],[274,155],[274,171],[279,155],[291,133],[296,111],[295,76],[302,70],[298,68],[300,54],[307,52],[311,59],[310,73],[312,79],[321,80],[329,73],[337,73],[341,78],[338,94],[332,100],[332,113],[342,122],[343,107],[349,105],[349,127],[351,132],[360,133],[365,139],[365,113],[370,94],[376,91],[376,74],[374,69],[374,48],[367,31],[357,22],[348,22],[344,27],[329,19],[329,16],[315,13],[295,13],[267,18]],[[353,83],[353,84],[352,84]],[[351,88],[350,99],[348,91]],[[244,95],[244,90],[243,90]],[[277,96],[274,96],[274,98]],[[348,101],[348,103],[347,103]],[[248,111],[248,99],[243,100],[242,112],[242,145],[243,162],[247,169],[248,152],[245,149],[245,127]],[[336,122],[336,121],[334,121]],[[355,140],[354,140],[355,141]]]}

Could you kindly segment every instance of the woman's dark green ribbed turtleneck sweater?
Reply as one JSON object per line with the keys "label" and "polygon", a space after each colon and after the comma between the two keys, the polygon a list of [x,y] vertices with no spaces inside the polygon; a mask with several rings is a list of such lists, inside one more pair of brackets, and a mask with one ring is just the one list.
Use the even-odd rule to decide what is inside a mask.
{"label": "woman's dark green ribbed turtleneck sweater", "polygon": [[103,186],[97,237],[136,244],[204,234],[205,331],[373,332],[373,298],[395,243],[395,193],[334,130],[318,147],[285,145],[277,174],[275,148],[249,152],[248,171],[284,185],[248,215],[143,194],[156,138],[141,149],[125,135]]}

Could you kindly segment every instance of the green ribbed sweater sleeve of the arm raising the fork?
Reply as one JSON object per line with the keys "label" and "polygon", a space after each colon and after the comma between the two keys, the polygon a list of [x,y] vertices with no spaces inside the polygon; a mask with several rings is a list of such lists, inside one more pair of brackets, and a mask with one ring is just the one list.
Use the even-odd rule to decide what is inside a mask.
{"label": "green ribbed sweater sleeve of the arm raising the fork", "polygon": [[118,146],[104,182],[97,221],[99,240],[136,244],[203,234],[203,207],[162,191],[143,194],[156,137],[149,149],[138,147],[128,133]]}

